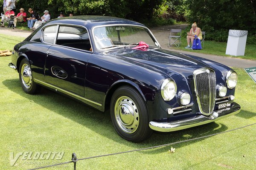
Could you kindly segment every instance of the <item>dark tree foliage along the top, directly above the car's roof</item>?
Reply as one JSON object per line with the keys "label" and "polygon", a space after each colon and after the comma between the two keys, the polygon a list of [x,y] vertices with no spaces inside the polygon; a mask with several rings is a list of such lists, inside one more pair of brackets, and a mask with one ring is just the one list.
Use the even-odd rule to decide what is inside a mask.
{"label": "dark tree foliage along the top, directly above the car's roof", "polygon": [[48,10],[52,18],[60,12],[75,15],[105,15],[131,20],[152,19],[162,0],[18,0],[18,8],[33,8],[42,13]]}

